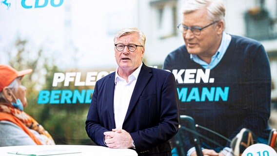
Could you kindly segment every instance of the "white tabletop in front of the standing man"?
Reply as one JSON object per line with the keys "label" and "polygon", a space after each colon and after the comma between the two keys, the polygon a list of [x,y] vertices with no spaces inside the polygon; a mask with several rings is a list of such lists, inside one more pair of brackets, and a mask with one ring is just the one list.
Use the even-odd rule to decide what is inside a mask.
{"label": "white tabletop in front of the standing man", "polygon": [[[73,154],[61,154],[54,156],[138,156],[137,152],[131,149],[111,149],[103,146],[88,145],[32,145],[32,146],[6,146],[0,147],[0,156],[20,156],[8,154],[8,152],[80,152]],[[21,155],[22,156],[22,155]]]}

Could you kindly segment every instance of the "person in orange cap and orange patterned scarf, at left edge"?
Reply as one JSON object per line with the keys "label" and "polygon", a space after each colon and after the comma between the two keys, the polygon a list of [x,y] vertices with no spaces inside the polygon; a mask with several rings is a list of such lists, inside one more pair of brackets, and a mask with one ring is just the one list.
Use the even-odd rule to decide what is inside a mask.
{"label": "person in orange cap and orange patterned scarf, at left edge", "polygon": [[51,135],[23,111],[27,100],[21,78],[31,72],[0,64],[0,146],[55,144]]}

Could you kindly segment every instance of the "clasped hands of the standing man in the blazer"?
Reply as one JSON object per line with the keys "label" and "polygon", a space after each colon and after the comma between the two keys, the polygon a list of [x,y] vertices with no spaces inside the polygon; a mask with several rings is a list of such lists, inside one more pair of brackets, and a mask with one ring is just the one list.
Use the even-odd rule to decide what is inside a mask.
{"label": "clasped hands of the standing man in the blazer", "polygon": [[105,143],[109,148],[131,148],[132,137],[131,135],[121,129],[112,129],[112,131],[104,132]]}

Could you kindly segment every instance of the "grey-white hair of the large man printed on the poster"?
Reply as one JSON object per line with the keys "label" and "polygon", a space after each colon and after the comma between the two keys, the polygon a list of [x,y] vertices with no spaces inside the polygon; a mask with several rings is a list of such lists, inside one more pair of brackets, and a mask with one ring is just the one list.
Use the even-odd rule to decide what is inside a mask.
{"label": "grey-white hair of the large man printed on the poster", "polygon": [[225,6],[221,0],[186,0],[181,13],[185,16],[202,8],[207,9],[207,19],[211,22],[222,20],[225,23]]}

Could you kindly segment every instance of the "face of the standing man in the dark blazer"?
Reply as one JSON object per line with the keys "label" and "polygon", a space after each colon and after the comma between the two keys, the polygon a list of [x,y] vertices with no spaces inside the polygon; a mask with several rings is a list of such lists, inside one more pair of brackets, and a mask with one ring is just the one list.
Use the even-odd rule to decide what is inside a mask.
{"label": "face of the standing man in the dark blazer", "polygon": [[[116,40],[115,44],[136,44],[140,45],[139,43],[139,34],[133,33],[125,36],[121,36],[119,39]],[[134,72],[139,65],[141,64],[142,58],[144,54],[144,47],[137,47],[134,52],[130,52],[128,47],[125,46],[123,51],[118,51],[115,47],[115,57],[116,61],[119,65],[119,72]]]}

